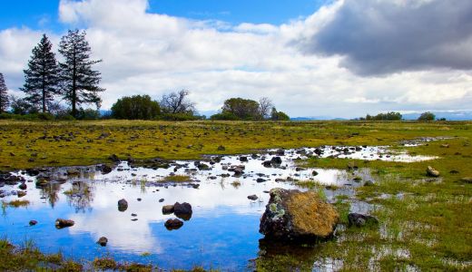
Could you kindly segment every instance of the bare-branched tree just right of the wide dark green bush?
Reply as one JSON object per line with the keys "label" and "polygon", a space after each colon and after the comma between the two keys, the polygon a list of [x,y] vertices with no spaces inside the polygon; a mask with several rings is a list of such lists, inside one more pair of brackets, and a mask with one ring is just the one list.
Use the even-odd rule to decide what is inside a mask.
{"label": "bare-branched tree just right of the wide dark green bush", "polygon": [[189,91],[171,92],[162,95],[161,109],[166,113],[190,113],[195,112],[195,103],[189,101]]}

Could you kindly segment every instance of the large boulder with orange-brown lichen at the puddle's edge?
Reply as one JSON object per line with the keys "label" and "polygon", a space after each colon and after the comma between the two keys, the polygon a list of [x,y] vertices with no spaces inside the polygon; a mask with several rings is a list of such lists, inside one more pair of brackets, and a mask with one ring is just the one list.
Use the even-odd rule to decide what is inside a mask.
{"label": "large boulder with orange-brown lichen at the puddle's edge", "polygon": [[270,190],[259,232],[283,240],[329,238],[338,221],[338,211],[317,192],[275,188]]}

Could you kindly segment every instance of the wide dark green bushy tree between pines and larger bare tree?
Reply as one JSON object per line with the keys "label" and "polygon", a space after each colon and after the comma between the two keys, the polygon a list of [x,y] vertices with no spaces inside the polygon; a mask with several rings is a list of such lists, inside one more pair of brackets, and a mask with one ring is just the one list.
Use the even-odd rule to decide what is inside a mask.
{"label": "wide dark green bushy tree between pines and larger bare tree", "polygon": [[125,96],[112,106],[112,117],[116,119],[155,119],[161,113],[159,103],[149,95]]}

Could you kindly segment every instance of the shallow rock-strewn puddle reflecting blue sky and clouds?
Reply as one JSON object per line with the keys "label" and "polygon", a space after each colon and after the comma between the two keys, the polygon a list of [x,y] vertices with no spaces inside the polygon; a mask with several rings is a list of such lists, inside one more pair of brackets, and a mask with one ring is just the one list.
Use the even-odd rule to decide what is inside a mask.
{"label": "shallow rock-strewn puddle reflecting blue sky and clouds", "polygon": [[[270,189],[306,190],[303,184],[308,182],[324,188],[326,198],[334,202],[336,196],[352,196],[353,188],[373,180],[369,169],[296,166],[294,160],[310,156],[420,160],[419,156],[384,147],[325,146],[208,156],[202,161],[161,161],[160,167],[151,168],[122,161],[113,169],[93,166],[19,171],[14,173],[15,179],[25,180],[26,189],[18,188],[21,182],[0,180],[4,202],[0,233],[15,244],[32,239],[44,252],[62,251],[74,259],[108,256],[163,268],[246,270],[249,260],[261,250],[259,223]],[[20,198],[23,193],[19,191],[25,196]],[[252,195],[257,199],[248,199]],[[10,201],[18,199],[29,203],[16,203],[19,207],[15,208],[15,202]],[[128,202],[124,211],[118,209],[119,199]],[[193,212],[182,228],[170,231],[164,222],[175,216],[162,214],[162,206],[175,202],[190,203]],[[365,202],[351,203],[352,212],[367,213],[369,209]],[[72,219],[74,226],[57,229],[56,219]],[[37,224],[30,226],[30,220]],[[106,247],[96,244],[101,237],[108,238]]]}

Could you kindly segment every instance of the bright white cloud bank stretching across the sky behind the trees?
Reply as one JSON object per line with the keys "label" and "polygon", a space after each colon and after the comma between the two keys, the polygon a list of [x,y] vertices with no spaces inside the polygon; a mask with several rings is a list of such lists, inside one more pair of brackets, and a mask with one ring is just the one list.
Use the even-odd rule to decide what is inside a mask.
{"label": "bright white cloud bank stretching across the sky behind the trees", "polygon": [[[59,17],[70,28],[84,27],[93,58],[103,59],[96,66],[107,89],[103,108],[123,95],[148,93],[159,99],[181,88],[192,92],[202,111],[217,110],[225,99],[237,96],[268,96],[290,116],[356,117],[468,107],[472,79],[466,72],[362,77],[339,66],[343,56],[306,55],[293,46],[297,38],[325,29],[347,2],[336,1],[306,19],[282,25],[232,26],[152,14],[146,0],[63,0]],[[22,69],[40,34],[27,29],[0,32],[0,67],[11,89],[21,86]],[[55,46],[60,35],[52,35]]]}

